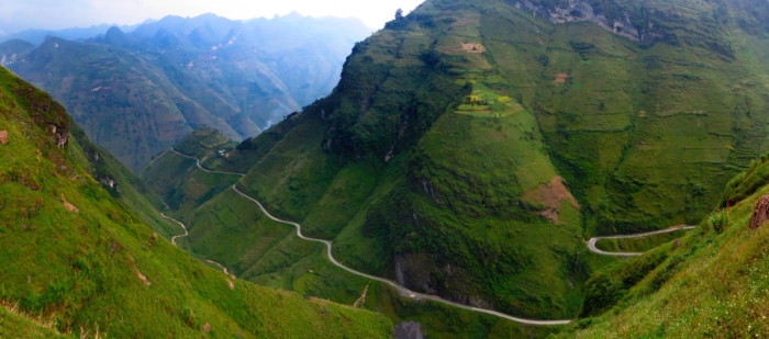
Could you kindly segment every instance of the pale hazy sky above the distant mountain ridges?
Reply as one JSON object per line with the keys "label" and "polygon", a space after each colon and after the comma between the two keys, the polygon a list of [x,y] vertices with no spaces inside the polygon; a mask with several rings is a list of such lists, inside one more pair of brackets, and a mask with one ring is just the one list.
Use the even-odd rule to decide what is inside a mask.
{"label": "pale hazy sky above the distant mountain ridges", "polygon": [[136,24],[166,15],[214,13],[242,20],[297,11],[312,16],[354,16],[379,29],[402,8],[423,0],[0,0],[0,33],[60,30],[102,23]]}

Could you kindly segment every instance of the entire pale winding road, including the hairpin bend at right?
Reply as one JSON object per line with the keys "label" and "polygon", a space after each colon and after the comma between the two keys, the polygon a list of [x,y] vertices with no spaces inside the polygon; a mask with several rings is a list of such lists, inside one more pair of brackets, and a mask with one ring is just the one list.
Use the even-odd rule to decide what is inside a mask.
{"label": "entire pale winding road, including the hairpin bend at right", "polygon": [[[201,160],[199,160],[198,158],[190,157],[190,156],[186,156],[186,155],[183,155],[183,154],[180,154],[180,152],[176,151],[176,150],[172,149],[172,148],[171,148],[170,150],[171,150],[172,152],[179,155],[179,156],[185,157],[185,158],[189,158],[189,159],[196,160],[196,161],[197,161],[197,165],[198,165],[198,168],[199,168],[200,170],[205,171],[205,172],[209,172],[209,173],[219,173],[219,174],[238,176],[238,177],[244,177],[244,176],[245,176],[245,174],[243,174],[243,173],[212,171],[212,170],[205,169],[205,168],[203,168],[203,167],[201,166]],[[205,158],[203,158],[203,159],[205,159]],[[504,319],[508,319],[508,320],[512,320],[512,321],[516,321],[516,323],[521,323],[521,324],[525,324],[525,325],[535,325],[535,326],[558,326],[558,325],[568,325],[568,324],[570,324],[570,323],[572,321],[572,320],[533,320],[533,319],[524,319],[524,318],[513,317],[513,316],[511,316],[511,315],[506,315],[506,314],[503,314],[503,313],[500,313],[500,312],[495,312],[495,310],[490,310],[490,309],[484,309],[484,308],[479,308],[479,307],[472,307],[472,306],[467,306],[467,305],[462,305],[462,304],[457,304],[457,303],[454,303],[454,302],[449,302],[449,301],[447,301],[447,300],[444,300],[444,298],[442,298],[442,297],[439,297],[439,296],[436,296],[436,295],[430,295],[430,294],[422,294],[422,293],[413,292],[413,291],[411,291],[411,290],[409,290],[409,289],[406,289],[406,287],[400,285],[399,283],[389,280],[389,279],[379,278],[379,276],[366,274],[366,273],[363,273],[363,272],[358,272],[358,271],[356,271],[356,270],[353,270],[353,269],[350,269],[350,268],[348,268],[348,267],[342,264],[341,262],[338,262],[338,261],[334,258],[334,255],[333,255],[333,252],[332,252],[332,242],[331,242],[331,241],[328,241],[328,240],[322,240],[322,239],[314,239],[314,238],[310,238],[310,237],[305,237],[304,235],[302,235],[302,225],[297,224],[297,223],[292,223],[292,222],[282,221],[282,219],[279,219],[279,218],[272,216],[271,214],[269,214],[269,212],[267,212],[267,210],[265,208],[264,205],[261,205],[260,202],[258,202],[256,199],[250,197],[250,196],[248,196],[247,194],[241,192],[241,191],[237,189],[237,183],[234,184],[234,185],[232,185],[232,189],[233,189],[237,194],[242,195],[243,197],[245,197],[245,199],[252,201],[252,202],[255,203],[257,206],[259,206],[259,210],[261,210],[261,212],[263,212],[267,217],[269,217],[270,219],[272,219],[272,221],[275,221],[275,222],[278,222],[278,223],[281,223],[281,224],[287,224],[287,225],[291,225],[291,226],[296,227],[296,228],[297,228],[297,236],[299,236],[299,238],[301,238],[301,239],[303,239],[303,240],[314,241],[314,242],[321,242],[321,244],[325,245],[325,247],[326,247],[326,255],[328,256],[328,260],[330,260],[334,265],[336,265],[336,267],[338,267],[338,268],[341,268],[341,269],[343,269],[343,270],[345,270],[345,271],[347,271],[347,272],[349,272],[349,273],[353,273],[353,274],[355,274],[355,275],[363,276],[363,278],[366,278],[366,279],[370,279],[370,280],[375,280],[375,281],[378,281],[378,282],[388,284],[388,285],[392,286],[393,289],[395,289],[395,291],[398,291],[398,293],[399,293],[401,296],[405,296],[405,297],[412,298],[412,300],[414,300],[414,301],[433,301],[433,302],[446,304],[446,305],[454,306],[454,307],[458,307],[458,308],[462,308],[462,309],[468,309],[468,310],[472,310],[472,312],[477,312],[477,313],[483,313],[483,314],[497,316],[497,317],[500,317],[500,318],[504,318]],[[163,217],[168,218],[168,219],[171,219],[171,221],[178,223],[178,224],[181,225],[181,227],[185,229],[185,235],[176,236],[176,237],[174,237],[174,238],[171,239],[171,242],[174,242],[174,245],[176,245],[176,238],[178,238],[178,237],[183,237],[183,236],[187,236],[187,235],[188,235],[187,227],[185,227],[183,224],[181,224],[181,223],[179,223],[179,222],[177,222],[177,221],[175,221],[175,219],[172,219],[172,218],[167,217],[165,214],[163,215]],[[643,255],[643,253],[605,252],[605,251],[602,251],[602,250],[599,250],[598,248],[595,248],[595,242],[597,242],[598,240],[601,240],[601,239],[642,238],[642,237],[651,236],[651,235],[657,235],[657,234],[670,233],[670,231],[675,231],[675,230],[679,230],[679,229],[692,229],[692,228],[695,228],[695,227],[696,227],[696,226],[678,226],[678,227],[672,227],[672,228],[668,228],[668,229],[664,229],[664,230],[650,231],[650,233],[638,234],[638,235],[613,236],[613,237],[594,237],[594,238],[591,238],[590,241],[588,241],[588,248],[590,248],[590,250],[593,251],[593,252],[595,252],[595,253],[604,255],[604,256],[620,256],[620,257],[640,256],[640,255]],[[221,267],[221,265],[220,265],[220,267]]]}

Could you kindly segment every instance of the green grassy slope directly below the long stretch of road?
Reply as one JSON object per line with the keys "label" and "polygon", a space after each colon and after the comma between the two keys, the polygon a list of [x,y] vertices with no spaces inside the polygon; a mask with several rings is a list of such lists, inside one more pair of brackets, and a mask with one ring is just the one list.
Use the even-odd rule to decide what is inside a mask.
{"label": "green grassy slope directly below the long stretch of road", "polygon": [[[250,161],[252,155],[258,151],[235,150],[234,155]],[[163,167],[163,161],[171,159],[178,161],[183,158],[165,154],[144,173],[153,171],[153,167]],[[188,170],[194,167],[192,160],[185,163]],[[237,167],[226,169],[238,170]],[[171,178],[175,176],[169,174]],[[384,180],[390,179],[388,177]],[[339,194],[345,196],[344,192]],[[352,305],[366,285],[369,285],[365,308],[382,313],[393,323],[421,321],[427,335],[439,338],[508,338],[511,334],[543,337],[557,330],[523,327],[441,304],[413,303],[400,298],[390,287],[332,265],[325,258],[323,246],[300,240],[293,227],[267,219],[250,202],[232,190],[224,191],[191,213],[180,215],[180,218],[189,221],[187,225],[190,229],[189,238],[177,240],[182,248],[190,250],[197,258],[216,260],[232,273],[260,285],[297,291],[347,305]],[[358,247],[375,246],[370,241],[350,244]],[[344,245],[335,241],[335,246]],[[348,263],[346,260],[344,262]]]}

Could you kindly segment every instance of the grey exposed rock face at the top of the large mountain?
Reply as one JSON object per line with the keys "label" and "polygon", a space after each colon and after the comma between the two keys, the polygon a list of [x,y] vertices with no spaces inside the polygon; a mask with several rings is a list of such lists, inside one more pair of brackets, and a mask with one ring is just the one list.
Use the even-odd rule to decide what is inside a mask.
{"label": "grey exposed rock face at the top of the large mountain", "polygon": [[622,18],[610,20],[605,14],[599,13],[594,8],[584,0],[566,0],[554,8],[545,8],[539,5],[535,0],[524,0],[514,3],[516,8],[531,11],[532,14],[548,19],[553,23],[590,21],[599,24],[604,30],[625,36],[632,41],[654,42],[661,37],[660,34],[654,33],[654,24],[649,22],[648,29],[636,27],[632,22],[628,13],[624,13]]}

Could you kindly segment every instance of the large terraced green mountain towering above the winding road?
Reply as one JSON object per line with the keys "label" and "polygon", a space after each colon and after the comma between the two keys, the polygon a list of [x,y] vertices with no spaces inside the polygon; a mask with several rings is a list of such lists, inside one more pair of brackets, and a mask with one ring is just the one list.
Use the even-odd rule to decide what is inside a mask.
{"label": "large terraced green mountain towering above the winding road", "polygon": [[618,261],[587,239],[698,224],[769,149],[767,14],[760,1],[430,0],[356,44],[331,95],[202,161],[243,179],[204,181],[174,152],[142,177],[189,225],[185,248],[261,284],[305,289],[311,251],[258,211],[244,218],[234,181],[356,270],[575,318]]}

